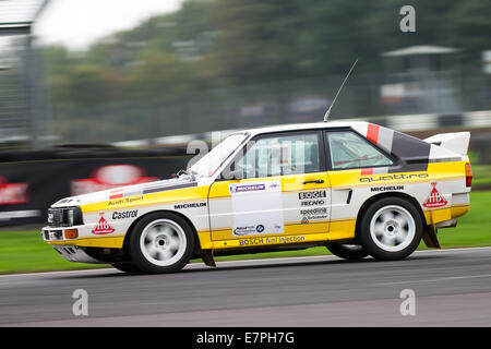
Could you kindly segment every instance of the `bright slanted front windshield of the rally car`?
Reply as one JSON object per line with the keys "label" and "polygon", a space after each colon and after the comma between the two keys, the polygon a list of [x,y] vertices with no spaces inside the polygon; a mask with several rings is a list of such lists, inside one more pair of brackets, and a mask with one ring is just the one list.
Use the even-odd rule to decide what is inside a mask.
{"label": "bright slanted front windshield of the rally car", "polygon": [[238,148],[247,136],[248,133],[235,133],[229,135],[220,144],[215,146],[208,154],[203,156],[196,164],[191,166],[189,171],[205,177],[212,176]]}

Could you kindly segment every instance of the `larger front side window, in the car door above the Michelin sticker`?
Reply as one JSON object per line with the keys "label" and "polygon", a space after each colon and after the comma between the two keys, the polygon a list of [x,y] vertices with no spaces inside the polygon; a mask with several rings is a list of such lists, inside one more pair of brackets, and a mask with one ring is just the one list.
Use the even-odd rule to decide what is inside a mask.
{"label": "larger front side window, in the car door above the Michelin sticker", "polygon": [[251,141],[237,163],[243,178],[318,172],[318,133],[282,134]]}

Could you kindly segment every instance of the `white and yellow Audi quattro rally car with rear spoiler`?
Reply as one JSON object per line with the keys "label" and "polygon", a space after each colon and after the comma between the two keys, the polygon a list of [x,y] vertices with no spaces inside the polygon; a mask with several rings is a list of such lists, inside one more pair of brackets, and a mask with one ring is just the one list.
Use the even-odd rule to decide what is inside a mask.
{"label": "white and yellow Audi quattro rally car with rear spoiler", "polygon": [[325,245],[400,260],[469,209],[469,132],[368,122],[236,132],[177,178],[63,198],[44,240],[73,262],[168,273],[191,257]]}

